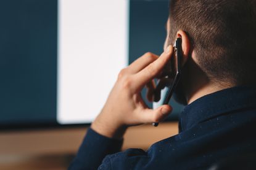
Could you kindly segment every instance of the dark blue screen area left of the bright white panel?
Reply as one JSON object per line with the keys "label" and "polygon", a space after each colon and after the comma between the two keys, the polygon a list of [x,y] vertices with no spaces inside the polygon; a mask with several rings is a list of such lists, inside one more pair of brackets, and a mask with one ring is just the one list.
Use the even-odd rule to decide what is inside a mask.
{"label": "dark blue screen area left of the bright white panel", "polygon": [[57,1],[0,1],[0,126],[56,122]]}

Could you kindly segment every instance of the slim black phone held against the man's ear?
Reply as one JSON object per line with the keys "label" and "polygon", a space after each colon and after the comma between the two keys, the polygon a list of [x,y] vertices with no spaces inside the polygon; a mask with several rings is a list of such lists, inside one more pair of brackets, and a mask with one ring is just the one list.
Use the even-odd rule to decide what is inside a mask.
{"label": "slim black phone held against the man's ear", "polygon": [[[168,102],[171,99],[171,96],[173,95],[173,91],[175,91],[175,88],[180,80],[181,77],[181,71],[182,71],[182,48],[181,48],[181,38],[178,37],[175,41],[175,45],[173,45],[174,53],[171,57],[170,62],[170,70],[171,73],[165,76],[166,80],[170,80],[169,82],[165,81],[165,84],[159,80],[159,83],[157,83],[157,88],[160,87],[160,94],[155,94],[154,96],[159,96],[159,98],[154,99],[153,102],[153,108],[157,108],[159,106],[162,106],[163,104],[168,104]],[[159,92],[158,92],[159,93]],[[159,123],[152,123],[153,126],[158,126]]]}

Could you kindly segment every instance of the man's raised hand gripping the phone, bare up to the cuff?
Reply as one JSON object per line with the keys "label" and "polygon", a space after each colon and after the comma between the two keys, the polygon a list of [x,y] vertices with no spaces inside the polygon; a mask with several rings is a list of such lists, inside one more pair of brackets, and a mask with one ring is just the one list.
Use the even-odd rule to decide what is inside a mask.
{"label": "man's raised hand gripping the phone, bare up to the cuff", "polygon": [[172,53],[171,46],[160,57],[146,53],[122,69],[91,128],[103,136],[122,138],[128,126],[160,122],[166,118],[171,107],[163,105],[154,110],[149,109],[141,97],[141,90],[145,86],[149,88],[147,98],[152,101],[154,78],[163,71]]}

